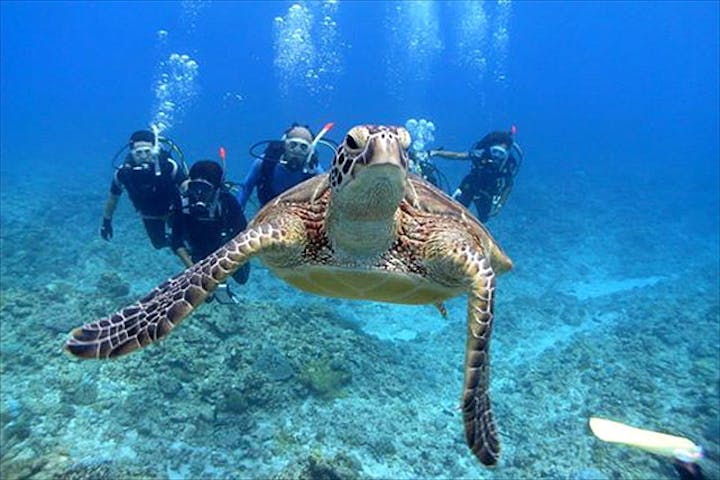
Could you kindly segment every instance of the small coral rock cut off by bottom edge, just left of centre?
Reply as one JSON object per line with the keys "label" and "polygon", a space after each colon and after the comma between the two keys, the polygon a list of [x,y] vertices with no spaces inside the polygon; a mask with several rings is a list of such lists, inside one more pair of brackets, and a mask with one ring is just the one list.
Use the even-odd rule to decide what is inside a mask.
{"label": "small coral rock cut off by bottom edge, just left of centre", "polygon": [[325,458],[313,452],[300,462],[290,462],[272,480],[354,480],[360,478],[360,471],[359,462],[344,453]]}

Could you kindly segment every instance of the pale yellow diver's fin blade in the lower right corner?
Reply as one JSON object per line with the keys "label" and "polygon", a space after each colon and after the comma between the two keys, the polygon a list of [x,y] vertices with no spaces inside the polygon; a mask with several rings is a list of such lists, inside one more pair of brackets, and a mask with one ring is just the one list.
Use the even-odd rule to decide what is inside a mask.
{"label": "pale yellow diver's fin blade in the lower right corner", "polygon": [[702,457],[702,448],[683,437],[631,427],[603,418],[590,418],[590,430],[605,442],[621,443],[669,458],[694,462]]}

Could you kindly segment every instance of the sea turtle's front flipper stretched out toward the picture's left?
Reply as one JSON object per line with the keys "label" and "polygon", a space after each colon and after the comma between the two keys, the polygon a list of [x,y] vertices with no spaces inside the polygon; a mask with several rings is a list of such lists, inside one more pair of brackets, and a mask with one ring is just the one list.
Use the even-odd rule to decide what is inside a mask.
{"label": "sea turtle's front flipper stretched out toward the picture's left", "polygon": [[252,256],[297,242],[298,235],[304,235],[304,226],[297,217],[254,225],[141,300],[74,329],[65,349],[78,357],[104,359],[142,348],[167,335]]}

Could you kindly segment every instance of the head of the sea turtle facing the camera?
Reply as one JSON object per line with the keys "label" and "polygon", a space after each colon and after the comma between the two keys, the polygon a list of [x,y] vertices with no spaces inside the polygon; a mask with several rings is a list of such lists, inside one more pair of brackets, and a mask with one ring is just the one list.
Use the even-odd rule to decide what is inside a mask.
{"label": "head of the sea turtle facing the camera", "polygon": [[358,220],[392,217],[405,196],[409,147],[402,127],[353,127],[330,170],[333,203]]}

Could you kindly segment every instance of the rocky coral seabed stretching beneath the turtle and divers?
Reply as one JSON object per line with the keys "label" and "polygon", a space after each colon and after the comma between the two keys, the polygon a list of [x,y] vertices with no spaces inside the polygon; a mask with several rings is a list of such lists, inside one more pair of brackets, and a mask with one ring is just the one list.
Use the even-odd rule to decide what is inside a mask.
{"label": "rocky coral seabed stretching beneath the turtle and divers", "polygon": [[[128,205],[111,243],[89,209],[61,205],[101,204],[72,193],[98,181],[70,185],[61,202],[36,189],[32,205],[0,190],[2,478],[673,475],[662,459],[594,439],[590,415],[688,436],[709,452],[706,476],[720,477],[717,237],[638,213],[658,211],[658,198],[592,193],[578,176],[523,185],[493,219],[517,268],[496,290],[503,453],[488,473],[457,410],[463,298],[437,322],[431,306],[296,292],[257,263],[233,287],[239,305],[204,305],[156,345],[111,362],[65,355],[71,328],[180,268],[150,247]],[[558,204],[568,207],[556,218]],[[61,214],[68,229],[48,243]],[[400,327],[412,335],[394,335]]]}

